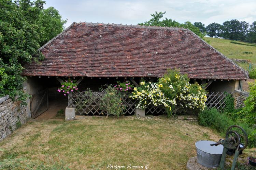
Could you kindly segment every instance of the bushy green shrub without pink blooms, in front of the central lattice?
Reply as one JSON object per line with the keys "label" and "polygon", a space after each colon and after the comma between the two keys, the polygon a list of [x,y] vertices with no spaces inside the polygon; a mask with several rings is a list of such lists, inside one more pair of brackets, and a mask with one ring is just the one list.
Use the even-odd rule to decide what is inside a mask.
{"label": "bushy green shrub without pink blooms, in front of the central lattice", "polygon": [[100,101],[100,109],[106,111],[107,117],[109,115],[123,115],[125,109],[125,106],[123,105],[124,97],[124,94],[115,87],[112,87],[112,85],[109,85],[104,90],[104,95]]}

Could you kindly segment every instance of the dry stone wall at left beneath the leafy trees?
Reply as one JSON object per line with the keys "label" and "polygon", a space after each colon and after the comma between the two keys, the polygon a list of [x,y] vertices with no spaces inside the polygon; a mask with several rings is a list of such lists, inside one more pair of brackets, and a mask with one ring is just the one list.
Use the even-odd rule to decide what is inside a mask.
{"label": "dry stone wall at left beneath the leafy trees", "polygon": [[0,141],[26,123],[28,108],[20,103],[9,96],[0,98]]}

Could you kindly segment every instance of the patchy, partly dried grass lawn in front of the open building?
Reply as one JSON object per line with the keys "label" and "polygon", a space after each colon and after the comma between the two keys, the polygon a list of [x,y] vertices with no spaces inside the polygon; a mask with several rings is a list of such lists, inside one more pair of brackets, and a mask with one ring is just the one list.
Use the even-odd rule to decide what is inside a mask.
{"label": "patchy, partly dried grass lawn in front of the open building", "polygon": [[196,121],[165,116],[31,120],[0,142],[0,169],[185,169],[196,141],[219,138]]}

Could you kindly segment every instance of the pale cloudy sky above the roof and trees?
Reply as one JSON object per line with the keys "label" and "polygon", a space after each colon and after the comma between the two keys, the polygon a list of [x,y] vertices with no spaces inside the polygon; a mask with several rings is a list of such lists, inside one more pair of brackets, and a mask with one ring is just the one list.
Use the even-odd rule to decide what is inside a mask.
{"label": "pale cloudy sky above the roof and trees", "polygon": [[44,8],[53,6],[65,27],[72,22],[133,24],[148,21],[150,14],[165,12],[164,17],[176,20],[209,23],[231,19],[256,21],[256,0],[45,0]]}

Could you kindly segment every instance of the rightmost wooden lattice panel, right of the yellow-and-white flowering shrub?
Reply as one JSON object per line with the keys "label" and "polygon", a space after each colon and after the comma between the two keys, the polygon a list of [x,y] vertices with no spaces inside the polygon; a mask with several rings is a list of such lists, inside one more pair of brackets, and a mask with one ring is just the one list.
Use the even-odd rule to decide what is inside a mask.
{"label": "rightmost wooden lattice panel, right of the yellow-and-white flowering shrub", "polygon": [[225,97],[228,95],[227,92],[209,92],[207,94],[207,101],[205,102],[208,108],[216,108],[218,110],[223,109],[225,104]]}

